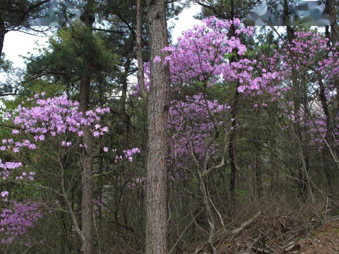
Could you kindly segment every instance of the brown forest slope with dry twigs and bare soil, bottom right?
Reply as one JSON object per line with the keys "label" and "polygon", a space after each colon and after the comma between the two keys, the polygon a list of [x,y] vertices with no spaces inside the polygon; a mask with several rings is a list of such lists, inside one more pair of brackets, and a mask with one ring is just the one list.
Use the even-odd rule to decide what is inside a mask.
{"label": "brown forest slope with dry twigs and bare soil, bottom right", "polygon": [[[320,212],[310,216],[307,211],[276,216],[257,213],[233,230],[217,232],[213,244],[218,254],[339,253],[339,216],[335,211],[327,217]],[[200,246],[200,253],[210,253],[207,244]]]}

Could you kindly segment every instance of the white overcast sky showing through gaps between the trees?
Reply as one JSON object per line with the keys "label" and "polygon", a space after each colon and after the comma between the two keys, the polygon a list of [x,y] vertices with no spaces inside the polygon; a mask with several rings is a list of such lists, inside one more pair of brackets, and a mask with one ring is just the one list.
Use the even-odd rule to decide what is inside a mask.
{"label": "white overcast sky showing through gaps between the trees", "polygon": [[[181,36],[183,30],[193,27],[194,24],[200,23],[199,20],[193,18],[200,11],[199,5],[193,5],[188,9],[184,9],[178,16],[179,20],[170,20],[168,25],[175,24],[172,30],[172,38],[175,43],[178,36]],[[16,67],[25,67],[24,59],[20,57],[29,56],[29,53],[37,54],[37,48],[48,45],[47,37],[38,37],[34,35],[24,34],[18,31],[10,31],[5,35],[3,52],[5,59],[13,62]],[[36,45],[36,42],[40,45]],[[29,53],[28,53],[29,52]]]}

